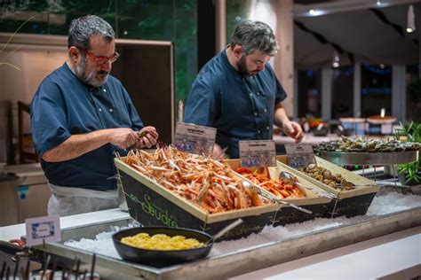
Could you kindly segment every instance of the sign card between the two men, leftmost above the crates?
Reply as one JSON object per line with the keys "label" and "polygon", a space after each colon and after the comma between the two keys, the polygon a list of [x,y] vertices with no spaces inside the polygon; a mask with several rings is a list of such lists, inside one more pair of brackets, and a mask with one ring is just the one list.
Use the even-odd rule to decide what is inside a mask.
{"label": "sign card between the two men, leftmost above the crates", "polygon": [[209,156],[213,152],[216,136],[217,128],[177,122],[174,145],[180,151]]}

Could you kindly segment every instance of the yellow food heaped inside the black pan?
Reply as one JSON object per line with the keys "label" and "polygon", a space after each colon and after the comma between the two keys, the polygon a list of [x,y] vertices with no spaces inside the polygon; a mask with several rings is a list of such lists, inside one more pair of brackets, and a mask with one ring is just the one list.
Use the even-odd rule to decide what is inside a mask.
{"label": "yellow food heaped inside the black pan", "polygon": [[147,250],[187,250],[203,246],[195,238],[186,238],[182,236],[169,237],[165,234],[155,234],[150,237],[147,233],[139,233],[134,237],[123,237],[122,243]]}

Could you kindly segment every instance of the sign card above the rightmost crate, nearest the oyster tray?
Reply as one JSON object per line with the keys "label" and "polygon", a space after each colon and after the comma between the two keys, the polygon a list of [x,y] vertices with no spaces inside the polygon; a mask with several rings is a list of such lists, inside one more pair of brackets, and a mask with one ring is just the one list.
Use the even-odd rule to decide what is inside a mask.
{"label": "sign card above the rightmost crate, nearest the oyster tray", "polygon": [[285,144],[285,152],[290,167],[306,167],[310,163],[316,163],[311,144]]}

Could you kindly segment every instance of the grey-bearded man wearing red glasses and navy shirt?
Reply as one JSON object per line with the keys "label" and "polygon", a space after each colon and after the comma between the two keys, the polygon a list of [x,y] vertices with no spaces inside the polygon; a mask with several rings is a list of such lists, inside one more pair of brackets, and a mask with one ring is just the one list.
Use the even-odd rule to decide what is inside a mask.
{"label": "grey-bearded man wearing red glasses and navy shirt", "polygon": [[144,127],[127,91],[110,75],[118,57],[107,21],[93,15],[74,19],[68,61],[36,91],[31,125],[52,190],[48,214],[117,207],[115,152],[156,144],[156,129]]}

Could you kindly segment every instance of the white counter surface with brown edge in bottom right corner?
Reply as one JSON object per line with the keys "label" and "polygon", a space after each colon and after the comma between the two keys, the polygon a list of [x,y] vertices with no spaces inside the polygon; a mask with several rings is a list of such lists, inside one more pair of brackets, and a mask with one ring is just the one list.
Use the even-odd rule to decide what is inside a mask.
{"label": "white counter surface with brown edge in bottom right corner", "polygon": [[410,279],[421,275],[420,246],[416,227],[230,279]]}

